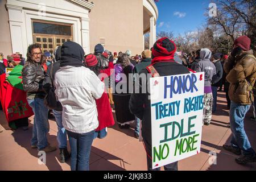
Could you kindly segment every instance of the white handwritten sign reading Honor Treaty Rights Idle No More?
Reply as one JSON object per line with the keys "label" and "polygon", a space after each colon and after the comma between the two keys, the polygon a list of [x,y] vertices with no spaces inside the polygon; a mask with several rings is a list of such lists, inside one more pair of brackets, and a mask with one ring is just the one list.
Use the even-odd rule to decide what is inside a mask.
{"label": "white handwritten sign reading Honor Treaty Rights Idle No More", "polygon": [[198,154],[204,72],[150,78],[152,168]]}

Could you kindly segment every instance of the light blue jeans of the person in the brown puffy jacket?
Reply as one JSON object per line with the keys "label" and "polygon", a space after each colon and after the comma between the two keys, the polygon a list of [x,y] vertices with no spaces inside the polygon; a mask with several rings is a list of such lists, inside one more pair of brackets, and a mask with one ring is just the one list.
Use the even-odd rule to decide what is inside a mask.
{"label": "light blue jeans of the person in the brown puffy jacket", "polygon": [[236,104],[231,101],[230,105],[230,129],[232,131],[231,145],[234,148],[242,149],[243,155],[255,155],[243,127],[243,119],[250,109],[250,105]]}

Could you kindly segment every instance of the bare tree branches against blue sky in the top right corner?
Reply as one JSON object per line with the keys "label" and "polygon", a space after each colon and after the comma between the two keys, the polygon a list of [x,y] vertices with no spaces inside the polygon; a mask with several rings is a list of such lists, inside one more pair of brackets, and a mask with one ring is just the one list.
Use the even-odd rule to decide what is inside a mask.
{"label": "bare tree branches against blue sky in the top right corner", "polygon": [[217,16],[208,17],[209,25],[220,28],[232,41],[238,36],[247,35],[256,44],[256,1],[255,0],[214,0]]}

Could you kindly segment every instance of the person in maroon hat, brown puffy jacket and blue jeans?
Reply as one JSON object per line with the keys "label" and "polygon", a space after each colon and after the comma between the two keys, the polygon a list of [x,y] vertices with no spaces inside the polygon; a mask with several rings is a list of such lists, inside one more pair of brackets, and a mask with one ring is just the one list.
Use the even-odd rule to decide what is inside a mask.
{"label": "person in maroon hat, brown puffy jacket and blue jeans", "polygon": [[247,36],[240,36],[234,42],[234,48],[224,64],[224,71],[228,74],[226,80],[230,83],[230,128],[232,130],[231,145],[224,145],[224,149],[236,155],[243,156],[236,159],[238,164],[256,162],[255,151],[251,148],[249,139],[243,127],[243,119],[253,102],[253,86],[256,80],[256,59],[250,49],[251,40]]}

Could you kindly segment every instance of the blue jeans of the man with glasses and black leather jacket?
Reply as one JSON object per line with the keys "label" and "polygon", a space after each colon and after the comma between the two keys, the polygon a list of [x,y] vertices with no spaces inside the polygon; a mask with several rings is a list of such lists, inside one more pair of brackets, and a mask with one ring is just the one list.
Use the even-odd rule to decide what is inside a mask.
{"label": "blue jeans of the man with glasses and black leather jacket", "polygon": [[44,106],[43,98],[27,100],[34,112],[34,125],[31,145],[37,145],[38,150],[48,146],[47,133],[49,132],[48,108]]}

